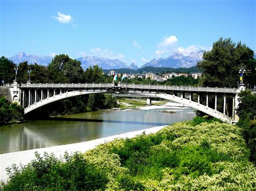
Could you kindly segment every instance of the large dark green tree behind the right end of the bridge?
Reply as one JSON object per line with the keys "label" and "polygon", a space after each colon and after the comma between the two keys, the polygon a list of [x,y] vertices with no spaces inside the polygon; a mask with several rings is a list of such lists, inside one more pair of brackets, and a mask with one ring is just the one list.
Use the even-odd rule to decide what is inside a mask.
{"label": "large dark green tree behind the right end of the bridge", "polygon": [[245,44],[233,43],[230,38],[220,38],[213,43],[211,51],[204,52],[203,60],[197,63],[203,72],[200,84],[204,87],[237,87],[239,69],[246,69],[244,82],[256,84],[253,51]]}

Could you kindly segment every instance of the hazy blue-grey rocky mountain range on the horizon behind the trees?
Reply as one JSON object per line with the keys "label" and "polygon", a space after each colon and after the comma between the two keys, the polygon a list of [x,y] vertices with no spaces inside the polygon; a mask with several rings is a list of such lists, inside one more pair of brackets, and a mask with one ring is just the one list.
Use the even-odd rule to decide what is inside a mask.
{"label": "hazy blue-grey rocky mountain range on the horizon behind the trees", "polygon": [[[142,67],[152,66],[152,67],[172,67],[172,68],[179,68],[179,67],[192,67],[196,66],[197,62],[203,59],[204,51],[200,50],[197,52],[191,52],[190,55],[185,56],[180,52],[174,52],[168,58],[159,58],[153,59],[147,63],[145,63]],[[24,52],[20,52],[14,56],[8,58],[9,60],[14,61],[14,63],[20,63],[24,61],[28,61],[29,64],[31,63],[38,63],[39,65],[48,65],[53,57],[51,56],[42,56],[42,55],[32,55],[26,54]],[[77,58],[81,62],[82,67],[85,69],[89,66],[98,65],[103,69],[119,69],[119,68],[130,68],[130,69],[138,69],[134,63],[128,66],[125,62],[115,59],[107,59],[107,58],[99,58],[96,56],[84,56]]]}

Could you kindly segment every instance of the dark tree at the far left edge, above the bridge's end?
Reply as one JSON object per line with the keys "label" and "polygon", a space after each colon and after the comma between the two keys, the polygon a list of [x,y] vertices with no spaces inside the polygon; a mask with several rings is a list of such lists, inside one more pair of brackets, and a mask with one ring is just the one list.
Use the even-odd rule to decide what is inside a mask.
{"label": "dark tree at the far left edge, above the bridge's end", "polygon": [[[4,56],[0,58],[0,79],[4,83],[12,83],[15,79],[15,64]],[[1,83],[2,83],[1,81]]]}

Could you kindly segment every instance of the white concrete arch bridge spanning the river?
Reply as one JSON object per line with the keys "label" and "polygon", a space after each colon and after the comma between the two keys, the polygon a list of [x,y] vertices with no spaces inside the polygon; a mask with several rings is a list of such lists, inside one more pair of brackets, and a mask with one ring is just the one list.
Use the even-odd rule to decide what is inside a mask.
{"label": "white concrete arch bridge spanning the river", "polygon": [[[147,97],[151,104],[151,97],[163,98],[173,102],[188,105],[226,123],[238,121],[237,109],[238,94],[244,87],[237,88],[210,88],[188,86],[158,86],[146,84],[114,84],[114,83],[26,83],[18,84],[16,81],[10,88],[13,100],[19,101],[24,108],[24,114],[44,107],[45,105],[63,100],[65,98],[85,94],[122,94],[127,96]],[[208,105],[208,96],[214,95],[214,108]],[[202,100],[205,97],[205,104]],[[232,95],[232,116],[226,115],[226,97]],[[196,98],[195,98],[196,97]],[[223,97],[223,111],[217,110],[217,98]]]}

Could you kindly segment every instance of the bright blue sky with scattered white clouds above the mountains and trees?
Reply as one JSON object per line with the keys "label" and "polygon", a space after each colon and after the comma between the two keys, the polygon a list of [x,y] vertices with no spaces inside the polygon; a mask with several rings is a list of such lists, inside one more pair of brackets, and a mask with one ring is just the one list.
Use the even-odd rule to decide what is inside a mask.
{"label": "bright blue sky with scattered white clouds above the mountains and trees", "polygon": [[142,66],[174,51],[210,50],[220,37],[256,50],[255,0],[0,0],[0,55],[120,59]]}

